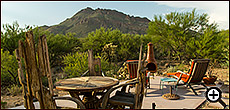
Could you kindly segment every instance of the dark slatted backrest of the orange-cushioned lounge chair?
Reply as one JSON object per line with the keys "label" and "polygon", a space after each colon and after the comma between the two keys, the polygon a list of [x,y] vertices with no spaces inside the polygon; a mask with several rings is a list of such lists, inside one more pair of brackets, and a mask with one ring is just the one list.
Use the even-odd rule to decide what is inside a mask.
{"label": "dark slatted backrest of the orange-cushioned lounge chair", "polygon": [[209,59],[194,59],[193,68],[190,70],[190,77],[188,78],[187,83],[201,82],[205,73],[207,72]]}

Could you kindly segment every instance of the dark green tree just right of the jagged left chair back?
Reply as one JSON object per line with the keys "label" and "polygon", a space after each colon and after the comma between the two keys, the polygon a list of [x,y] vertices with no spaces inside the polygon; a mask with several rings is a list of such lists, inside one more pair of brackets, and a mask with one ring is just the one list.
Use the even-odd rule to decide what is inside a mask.
{"label": "dark green tree just right of the jagged left chair back", "polygon": [[74,37],[75,33],[56,34],[50,33],[40,27],[33,28],[33,35],[35,37],[35,46],[38,43],[38,37],[46,35],[47,46],[49,51],[49,59],[51,68],[55,66],[61,66],[63,56],[68,53],[75,52],[81,47],[81,42],[77,37]]}

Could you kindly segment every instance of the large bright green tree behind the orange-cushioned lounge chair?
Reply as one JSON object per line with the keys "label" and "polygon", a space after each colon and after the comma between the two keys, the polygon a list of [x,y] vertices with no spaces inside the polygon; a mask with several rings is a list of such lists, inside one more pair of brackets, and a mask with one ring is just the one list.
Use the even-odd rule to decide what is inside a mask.
{"label": "large bright green tree behind the orange-cushioned lounge chair", "polygon": [[192,12],[171,12],[154,16],[149,23],[148,36],[154,39],[155,47],[166,51],[168,56],[179,60],[192,58],[221,59],[219,53],[223,44],[218,35],[216,23],[209,23],[208,14]]}

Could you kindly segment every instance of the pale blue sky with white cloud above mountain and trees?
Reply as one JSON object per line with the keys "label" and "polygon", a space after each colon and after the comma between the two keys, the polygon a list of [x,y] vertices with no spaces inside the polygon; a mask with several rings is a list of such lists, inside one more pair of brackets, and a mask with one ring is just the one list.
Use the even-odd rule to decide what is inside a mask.
{"label": "pale blue sky with white cloud above mountain and trees", "polygon": [[87,7],[117,10],[151,21],[154,15],[196,8],[200,15],[207,13],[209,22],[217,23],[218,29],[229,29],[229,1],[1,1],[1,31],[3,24],[12,25],[14,21],[22,28],[57,25]]}

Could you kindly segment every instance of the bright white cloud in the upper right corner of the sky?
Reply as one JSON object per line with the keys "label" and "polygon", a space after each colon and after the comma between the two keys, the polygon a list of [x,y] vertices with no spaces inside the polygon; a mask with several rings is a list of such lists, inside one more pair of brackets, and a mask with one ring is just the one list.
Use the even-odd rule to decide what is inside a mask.
{"label": "bright white cloud in the upper right corner of the sky", "polygon": [[157,3],[175,8],[204,10],[210,17],[210,23],[215,21],[219,29],[229,29],[229,1],[157,1]]}

